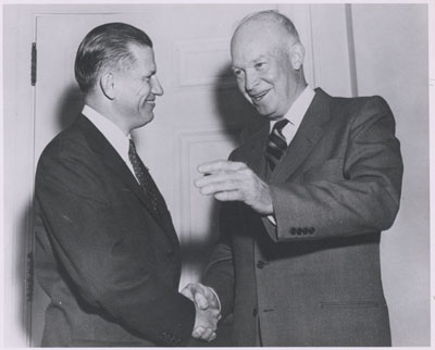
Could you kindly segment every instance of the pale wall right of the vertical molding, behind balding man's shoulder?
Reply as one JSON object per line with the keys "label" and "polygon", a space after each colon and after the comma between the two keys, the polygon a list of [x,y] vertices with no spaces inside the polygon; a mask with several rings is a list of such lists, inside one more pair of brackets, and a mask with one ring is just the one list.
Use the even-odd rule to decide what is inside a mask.
{"label": "pale wall right of the vertical molding, behind balding man's shoulder", "polygon": [[381,95],[405,162],[401,208],[381,245],[394,346],[430,345],[427,5],[353,4],[358,92]]}

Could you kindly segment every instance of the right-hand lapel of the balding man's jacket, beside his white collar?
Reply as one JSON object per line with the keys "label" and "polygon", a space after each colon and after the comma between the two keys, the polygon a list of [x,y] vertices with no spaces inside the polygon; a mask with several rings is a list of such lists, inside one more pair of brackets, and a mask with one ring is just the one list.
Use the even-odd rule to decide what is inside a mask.
{"label": "right-hand lapel of the balding man's jacket, beside his white collar", "polygon": [[322,125],[330,118],[330,103],[331,97],[323,90],[316,89],[295,138],[288,146],[282,162],[272,173],[271,183],[282,183],[288,179],[310,154],[323,136]]}

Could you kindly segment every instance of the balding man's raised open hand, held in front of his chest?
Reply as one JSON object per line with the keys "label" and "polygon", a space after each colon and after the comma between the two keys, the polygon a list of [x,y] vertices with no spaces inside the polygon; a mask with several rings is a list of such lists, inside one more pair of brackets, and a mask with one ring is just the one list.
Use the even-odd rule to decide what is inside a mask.
{"label": "balding man's raised open hand, held in front of his chest", "polygon": [[273,214],[269,185],[245,163],[214,161],[202,164],[204,175],[195,182],[202,195],[213,195],[220,201],[241,201],[263,215]]}

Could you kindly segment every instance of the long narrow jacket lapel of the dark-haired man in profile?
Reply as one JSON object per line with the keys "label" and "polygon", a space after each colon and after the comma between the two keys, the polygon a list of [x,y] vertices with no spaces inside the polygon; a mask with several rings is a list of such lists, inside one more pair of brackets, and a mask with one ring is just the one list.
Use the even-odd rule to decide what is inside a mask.
{"label": "long narrow jacket lapel of the dark-haired man in profile", "polygon": [[[128,166],[125,164],[121,155],[112,147],[112,145],[105,139],[105,137],[95,127],[95,125],[89,122],[87,117],[80,115],[76,122],[79,128],[86,135],[89,146],[91,149],[99,154],[108,167],[117,175],[117,177],[126,185],[139,201],[147,208],[150,214],[159,223],[164,232],[169,234],[167,225],[162,223],[161,218],[158,217],[150,207],[150,202],[144,192],[144,189],[137,183],[136,178],[129,171]],[[172,226],[172,225],[171,225]],[[172,235],[172,234],[171,234]]]}

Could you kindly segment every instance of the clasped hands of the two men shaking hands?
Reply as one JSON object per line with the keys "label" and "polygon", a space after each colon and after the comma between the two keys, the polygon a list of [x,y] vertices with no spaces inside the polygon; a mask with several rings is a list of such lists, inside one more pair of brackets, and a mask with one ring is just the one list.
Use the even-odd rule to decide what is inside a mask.
{"label": "clasped hands of the two men shaking hands", "polygon": [[191,336],[212,341],[216,338],[217,322],[221,320],[221,308],[214,291],[200,283],[188,284],[182,295],[195,303],[196,317]]}

